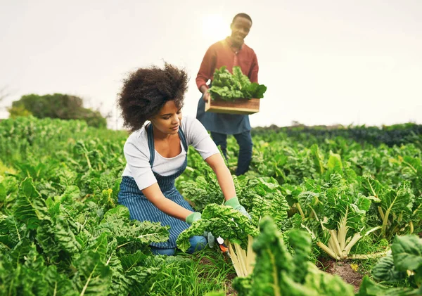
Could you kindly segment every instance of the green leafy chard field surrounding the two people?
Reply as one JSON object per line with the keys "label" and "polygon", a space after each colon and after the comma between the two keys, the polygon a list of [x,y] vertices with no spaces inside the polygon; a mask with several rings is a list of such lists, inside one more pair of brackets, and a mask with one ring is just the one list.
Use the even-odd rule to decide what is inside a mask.
{"label": "green leafy chard field surrounding the two people", "polygon": [[[203,219],[188,231],[252,249],[245,276],[217,248],[151,255],[168,227],[117,204],[126,139],[80,121],[0,122],[0,295],[422,295],[416,124],[255,129],[250,172],[234,176],[251,221],[222,206],[189,148],[176,184]],[[229,138],[232,172],[237,153]]]}

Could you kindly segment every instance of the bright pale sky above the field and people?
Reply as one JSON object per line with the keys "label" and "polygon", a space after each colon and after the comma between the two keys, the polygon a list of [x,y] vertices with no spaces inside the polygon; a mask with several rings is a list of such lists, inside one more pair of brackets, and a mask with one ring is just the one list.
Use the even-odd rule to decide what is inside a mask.
{"label": "bright pale sky above the field and people", "polygon": [[236,13],[268,87],[252,127],[276,124],[422,124],[422,0],[0,0],[0,89],[74,94],[113,112],[128,71],[163,60],[191,77]]}

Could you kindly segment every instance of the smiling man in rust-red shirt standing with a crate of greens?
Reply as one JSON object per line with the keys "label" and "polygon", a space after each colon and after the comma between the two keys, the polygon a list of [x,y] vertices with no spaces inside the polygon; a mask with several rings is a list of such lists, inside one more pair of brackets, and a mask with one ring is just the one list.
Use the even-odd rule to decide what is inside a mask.
{"label": "smiling man in rust-red shirt standing with a crate of greens", "polygon": [[[239,145],[238,167],[236,176],[248,171],[252,158],[252,138],[248,115],[234,115],[205,112],[205,102],[210,100],[208,89],[212,84],[215,69],[226,66],[232,72],[239,66],[250,82],[258,82],[258,61],[255,52],[244,43],[248,36],[252,19],[245,13],[238,13],[231,22],[231,35],[222,41],[212,44],[205,53],[196,77],[196,85],[203,94],[198,103],[196,118],[211,131],[212,139],[220,146],[226,157],[227,135],[234,135]],[[211,80],[210,85],[207,85]]]}

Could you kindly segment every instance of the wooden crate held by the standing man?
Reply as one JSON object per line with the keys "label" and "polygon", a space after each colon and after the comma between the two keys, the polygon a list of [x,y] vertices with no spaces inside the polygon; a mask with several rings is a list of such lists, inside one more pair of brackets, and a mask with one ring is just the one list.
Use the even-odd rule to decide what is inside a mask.
{"label": "wooden crate held by the standing man", "polygon": [[205,112],[248,115],[260,111],[260,101],[259,98],[238,98],[228,102],[217,98],[205,102]]}

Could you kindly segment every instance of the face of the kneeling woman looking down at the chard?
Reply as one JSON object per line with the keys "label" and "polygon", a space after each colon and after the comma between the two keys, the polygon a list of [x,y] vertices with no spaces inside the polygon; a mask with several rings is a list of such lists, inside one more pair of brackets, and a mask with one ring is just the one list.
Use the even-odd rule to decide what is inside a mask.
{"label": "face of the kneeling woman looking down at the chard", "polygon": [[151,119],[151,124],[162,134],[177,134],[181,122],[181,108],[177,108],[174,101],[167,101],[158,115]]}

